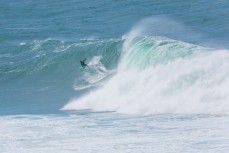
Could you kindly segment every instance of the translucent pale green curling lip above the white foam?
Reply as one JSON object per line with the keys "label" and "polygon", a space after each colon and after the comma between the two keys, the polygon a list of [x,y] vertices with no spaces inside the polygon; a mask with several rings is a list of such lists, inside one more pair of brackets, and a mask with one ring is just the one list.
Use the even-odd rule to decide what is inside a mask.
{"label": "translucent pale green curling lip above the white foam", "polygon": [[145,69],[210,49],[164,37],[138,37],[124,47],[121,69]]}

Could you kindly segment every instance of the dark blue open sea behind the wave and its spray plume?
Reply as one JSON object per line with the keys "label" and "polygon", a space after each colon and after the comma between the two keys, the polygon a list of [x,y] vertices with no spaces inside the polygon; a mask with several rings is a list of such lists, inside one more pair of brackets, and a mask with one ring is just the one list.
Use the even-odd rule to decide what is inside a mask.
{"label": "dark blue open sea behind the wave and its spray plume", "polygon": [[166,16],[192,30],[226,40],[228,2],[191,1],[7,1],[1,2],[1,40],[119,38],[136,22]]}

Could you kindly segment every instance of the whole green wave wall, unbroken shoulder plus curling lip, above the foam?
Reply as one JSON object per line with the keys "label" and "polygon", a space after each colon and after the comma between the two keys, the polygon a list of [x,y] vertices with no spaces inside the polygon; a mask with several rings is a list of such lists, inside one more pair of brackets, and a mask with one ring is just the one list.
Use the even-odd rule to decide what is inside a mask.
{"label": "whole green wave wall, unbroken shoulder plus curling lip, above the foam", "polygon": [[[0,56],[0,76],[49,76],[80,73],[79,61],[101,56],[106,69],[145,69],[188,58],[209,49],[164,37],[109,40],[40,40],[21,43]],[[11,77],[9,77],[11,76]]]}

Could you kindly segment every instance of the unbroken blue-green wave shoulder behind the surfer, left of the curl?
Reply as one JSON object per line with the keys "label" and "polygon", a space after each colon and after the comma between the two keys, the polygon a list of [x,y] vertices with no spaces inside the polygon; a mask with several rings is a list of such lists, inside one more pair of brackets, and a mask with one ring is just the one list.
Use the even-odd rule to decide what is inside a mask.
{"label": "unbroken blue-green wave shoulder behind the surfer, left of the curl", "polygon": [[[0,77],[6,80],[28,76],[53,77],[66,74],[80,76],[79,61],[102,56],[107,69],[117,66],[122,40],[61,41],[54,39],[20,43],[0,56]],[[5,79],[4,79],[5,78]],[[58,78],[59,79],[59,78]]]}

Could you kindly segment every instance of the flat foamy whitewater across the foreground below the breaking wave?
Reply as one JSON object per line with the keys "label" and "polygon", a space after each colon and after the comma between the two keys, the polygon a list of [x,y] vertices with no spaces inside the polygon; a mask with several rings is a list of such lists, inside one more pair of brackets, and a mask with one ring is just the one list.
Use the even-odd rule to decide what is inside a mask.
{"label": "flat foamy whitewater across the foreground below the breaking wave", "polygon": [[5,116],[0,121],[2,152],[228,151],[228,117],[222,116],[78,112]]}

